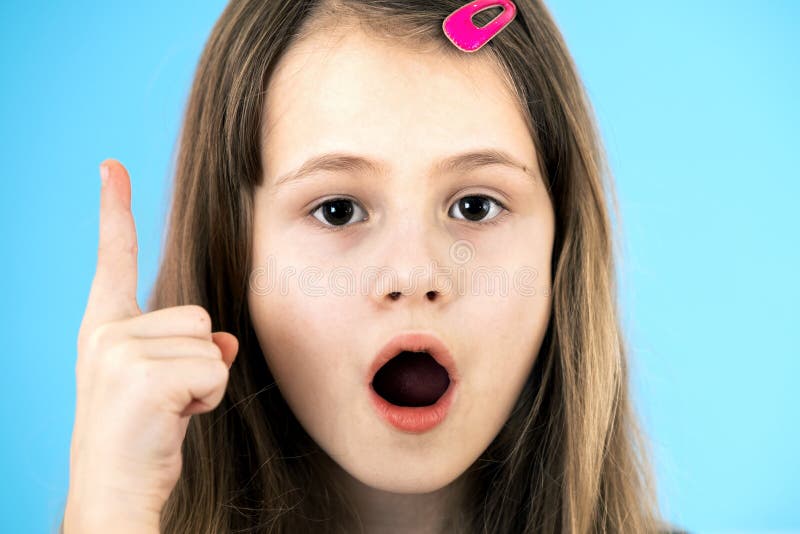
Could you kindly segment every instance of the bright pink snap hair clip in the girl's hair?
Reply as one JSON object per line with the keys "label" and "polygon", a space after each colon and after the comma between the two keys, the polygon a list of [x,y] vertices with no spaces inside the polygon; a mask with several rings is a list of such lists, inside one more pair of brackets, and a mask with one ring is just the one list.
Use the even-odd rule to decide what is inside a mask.
{"label": "bright pink snap hair clip in the girl's hair", "polygon": [[[472,17],[490,7],[502,7],[503,12],[485,26],[477,27]],[[475,52],[508,26],[516,14],[517,6],[511,0],[477,0],[450,13],[442,22],[442,29],[457,48],[464,52]]]}

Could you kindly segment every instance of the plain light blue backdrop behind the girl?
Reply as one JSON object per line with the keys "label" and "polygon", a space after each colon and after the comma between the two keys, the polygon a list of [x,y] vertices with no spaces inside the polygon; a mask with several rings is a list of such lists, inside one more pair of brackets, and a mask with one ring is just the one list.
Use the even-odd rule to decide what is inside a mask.
{"label": "plain light blue backdrop behind the girl", "polygon": [[[667,518],[800,530],[800,3],[549,3],[622,206],[636,402]],[[605,3],[602,3],[605,4]],[[50,532],[106,157],[154,280],[193,70],[222,1],[0,3],[0,530]]]}

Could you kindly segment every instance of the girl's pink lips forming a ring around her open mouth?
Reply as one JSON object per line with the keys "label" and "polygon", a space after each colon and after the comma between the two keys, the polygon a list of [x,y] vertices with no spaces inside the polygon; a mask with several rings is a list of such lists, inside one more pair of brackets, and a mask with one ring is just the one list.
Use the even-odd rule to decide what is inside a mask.
{"label": "girl's pink lips forming a ring around her open mouth", "polygon": [[[450,376],[450,385],[436,403],[430,406],[397,406],[387,402],[372,388],[372,377],[375,376],[378,369],[404,350],[427,351],[439,365],[447,370]],[[453,356],[438,337],[428,332],[409,332],[393,337],[384,345],[369,367],[366,382],[372,403],[381,417],[399,430],[420,433],[430,430],[445,419],[450,405],[453,403],[460,375]]]}

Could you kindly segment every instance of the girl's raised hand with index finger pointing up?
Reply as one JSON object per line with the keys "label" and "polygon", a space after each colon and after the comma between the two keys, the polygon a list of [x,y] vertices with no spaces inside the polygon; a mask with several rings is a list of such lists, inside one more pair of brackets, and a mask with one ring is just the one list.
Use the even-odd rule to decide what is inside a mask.
{"label": "girl's raised hand with index finger pointing up", "polygon": [[[102,169],[105,168],[107,172]],[[142,313],[131,184],[101,165],[97,267],[78,332],[63,531],[158,532],[192,415],[219,405],[239,348],[197,305]]]}

